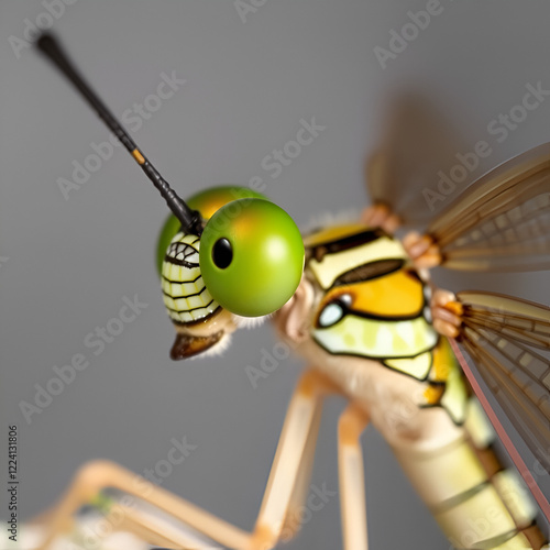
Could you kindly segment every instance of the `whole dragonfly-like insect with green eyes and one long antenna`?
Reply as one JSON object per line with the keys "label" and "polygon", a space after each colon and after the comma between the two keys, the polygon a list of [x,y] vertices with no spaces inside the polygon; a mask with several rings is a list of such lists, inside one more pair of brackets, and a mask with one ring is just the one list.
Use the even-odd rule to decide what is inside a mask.
{"label": "whole dragonfly-like insect with green eyes and one long antenna", "polygon": [[[248,318],[275,311],[280,337],[311,365],[292,397],[252,532],[117,464],[95,462],[43,516],[38,548],[52,548],[66,535],[82,506],[101,510],[112,525],[152,544],[275,547],[296,527],[293,518],[307,496],[322,402],[331,394],[349,400],[338,432],[346,550],[367,548],[360,437],[370,424],[387,440],[454,547],[549,548],[515,470],[505,468],[492,449],[494,432],[483,409],[547,519],[550,506],[458,344],[550,471],[550,364],[544,355],[550,309],[492,293],[453,295],[433,287],[429,268],[550,268],[550,144],[486,174],[425,234],[409,233],[403,241],[395,232],[407,213],[392,208],[394,167],[383,155],[374,156],[369,167],[374,205],[362,219],[318,228],[301,240],[285,212],[243,188],[215,188],[183,201],[56,42],[46,36],[38,46],[116,132],[174,213],[160,245],[162,290],[176,330],[173,359],[218,352]],[[469,528],[480,519],[482,531]]]}

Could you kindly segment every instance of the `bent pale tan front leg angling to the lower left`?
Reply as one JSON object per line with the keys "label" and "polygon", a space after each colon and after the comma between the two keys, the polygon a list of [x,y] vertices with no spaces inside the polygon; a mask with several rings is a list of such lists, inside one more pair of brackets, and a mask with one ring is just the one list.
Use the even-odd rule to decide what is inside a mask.
{"label": "bent pale tan front leg angling to the lower left", "polygon": [[[288,407],[279,443],[254,531],[249,534],[212,514],[153,485],[111,462],[92,462],[76,476],[61,504],[50,515],[47,536],[41,546],[47,549],[73,521],[73,515],[90,503],[102,490],[112,487],[143,499],[184,524],[229,548],[255,550],[272,548],[280,537],[293,497],[299,491],[298,477],[307,472],[302,463],[311,460],[315,424],[322,396],[334,388],[319,374],[307,372],[300,378]],[[307,450],[307,452],[306,452]]]}

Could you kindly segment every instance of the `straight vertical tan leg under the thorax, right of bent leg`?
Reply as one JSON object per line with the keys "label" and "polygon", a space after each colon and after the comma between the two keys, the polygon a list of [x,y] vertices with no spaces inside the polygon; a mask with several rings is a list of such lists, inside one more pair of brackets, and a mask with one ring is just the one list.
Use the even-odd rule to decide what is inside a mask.
{"label": "straight vertical tan leg under the thorax, right of bent leg", "polygon": [[338,466],[343,547],[367,550],[363,452],[360,438],[369,424],[366,414],[350,405],[338,425]]}

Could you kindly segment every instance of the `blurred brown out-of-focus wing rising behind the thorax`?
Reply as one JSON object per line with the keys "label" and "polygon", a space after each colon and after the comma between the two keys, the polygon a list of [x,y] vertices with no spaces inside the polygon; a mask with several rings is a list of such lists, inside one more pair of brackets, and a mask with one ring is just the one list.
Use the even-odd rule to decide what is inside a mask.
{"label": "blurred brown out-of-focus wing rising behind the thorax", "polygon": [[430,208],[424,191],[437,190],[439,172],[448,174],[466,147],[428,98],[402,95],[386,111],[380,145],[366,161],[369,194],[404,224],[426,227],[441,202]]}

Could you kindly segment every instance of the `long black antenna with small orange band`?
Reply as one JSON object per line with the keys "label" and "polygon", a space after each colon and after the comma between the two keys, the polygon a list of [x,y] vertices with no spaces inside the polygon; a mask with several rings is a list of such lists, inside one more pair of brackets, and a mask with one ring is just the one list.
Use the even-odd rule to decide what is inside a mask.
{"label": "long black antenna with small orange band", "polygon": [[97,94],[90,88],[75,66],[70,63],[55,36],[47,33],[43,34],[36,41],[36,45],[40,51],[45,54],[76,86],[80,94],[88,100],[88,103],[90,103],[94,110],[99,114],[99,118],[109,127],[124,147],[127,147],[129,153],[134,157],[135,162],[142,167],[143,172],[147,175],[151,182],[153,182],[153,185],[161,191],[161,195],[166,200],[168,208],[174,212],[174,216],[182,222],[182,229],[185,232],[200,235],[202,231],[200,215],[196,210],[191,210],[186,202],[178,197],[176,191],[147,161],[132,138],[130,138],[129,133],[122,128],[120,122],[114,118],[111,111],[109,111]]}

